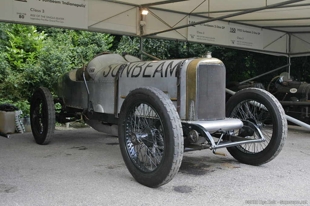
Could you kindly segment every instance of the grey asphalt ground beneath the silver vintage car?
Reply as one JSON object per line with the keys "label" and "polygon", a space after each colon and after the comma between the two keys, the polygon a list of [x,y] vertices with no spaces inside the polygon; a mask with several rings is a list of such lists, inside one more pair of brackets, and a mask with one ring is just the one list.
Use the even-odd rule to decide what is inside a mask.
{"label": "grey asphalt ground beneath the silver vintage car", "polygon": [[117,137],[90,127],[55,131],[48,145],[29,132],[0,136],[0,205],[307,205],[309,134],[289,126],[280,154],[260,166],[229,153],[186,152],[175,178],[158,188],[135,181]]}

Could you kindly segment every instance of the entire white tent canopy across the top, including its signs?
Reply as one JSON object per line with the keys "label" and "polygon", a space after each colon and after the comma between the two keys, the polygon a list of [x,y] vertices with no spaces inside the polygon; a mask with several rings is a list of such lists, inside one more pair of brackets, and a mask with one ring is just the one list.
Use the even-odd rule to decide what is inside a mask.
{"label": "entire white tent canopy across the top, including its signs", "polygon": [[[0,0],[0,21],[131,36],[141,36],[142,25],[142,37],[221,45],[288,57],[310,55],[310,0],[39,1],[42,3]],[[54,14],[49,14],[56,20],[44,19],[42,9],[39,13],[24,12],[25,18],[18,18],[18,14],[23,14],[19,11],[27,5],[25,2],[32,10],[36,9],[33,6],[36,3],[37,11],[43,4],[48,6],[47,11],[50,7],[56,8],[51,11]],[[23,7],[18,7],[19,4]],[[62,7],[57,9],[56,6]],[[63,8],[66,14],[62,13]],[[149,13],[141,15],[142,10]],[[31,13],[42,18],[29,18]],[[69,21],[70,18],[73,20]],[[63,19],[64,23],[61,20],[57,23],[57,19]]]}

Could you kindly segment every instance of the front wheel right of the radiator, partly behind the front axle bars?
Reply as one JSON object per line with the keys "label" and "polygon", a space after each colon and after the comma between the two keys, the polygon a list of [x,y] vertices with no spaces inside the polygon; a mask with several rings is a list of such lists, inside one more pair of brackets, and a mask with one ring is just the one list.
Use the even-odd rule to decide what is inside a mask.
{"label": "front wheel right of the radiator, partly behind the front axle bars", "polygon": [[[250,112],[249,112],[250,111]],[[265,142],[228,147],[228,152],[241,163],[262,165],[273,160],[283,148],[287,135],[287,122],[279,101],[269,92],[247,88],[236,92],[226,103],[226,117],[255,123],[263,133]],[[234,130],[240,135],[241,130]],[[243,137],[258,139],[254,131]]]}

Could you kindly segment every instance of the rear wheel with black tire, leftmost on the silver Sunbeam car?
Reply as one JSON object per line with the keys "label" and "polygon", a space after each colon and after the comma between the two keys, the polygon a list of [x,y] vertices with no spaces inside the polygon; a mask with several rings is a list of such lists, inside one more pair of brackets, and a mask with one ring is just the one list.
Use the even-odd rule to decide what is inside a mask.
{"label": "rear wheel with black tire, leftmost on the silver Sunbeam car", "polygon": [[34,90],[30,103],[30,124],[38,144],[51,142],[55,131],[55,106],[51,92],[45,87]]}

